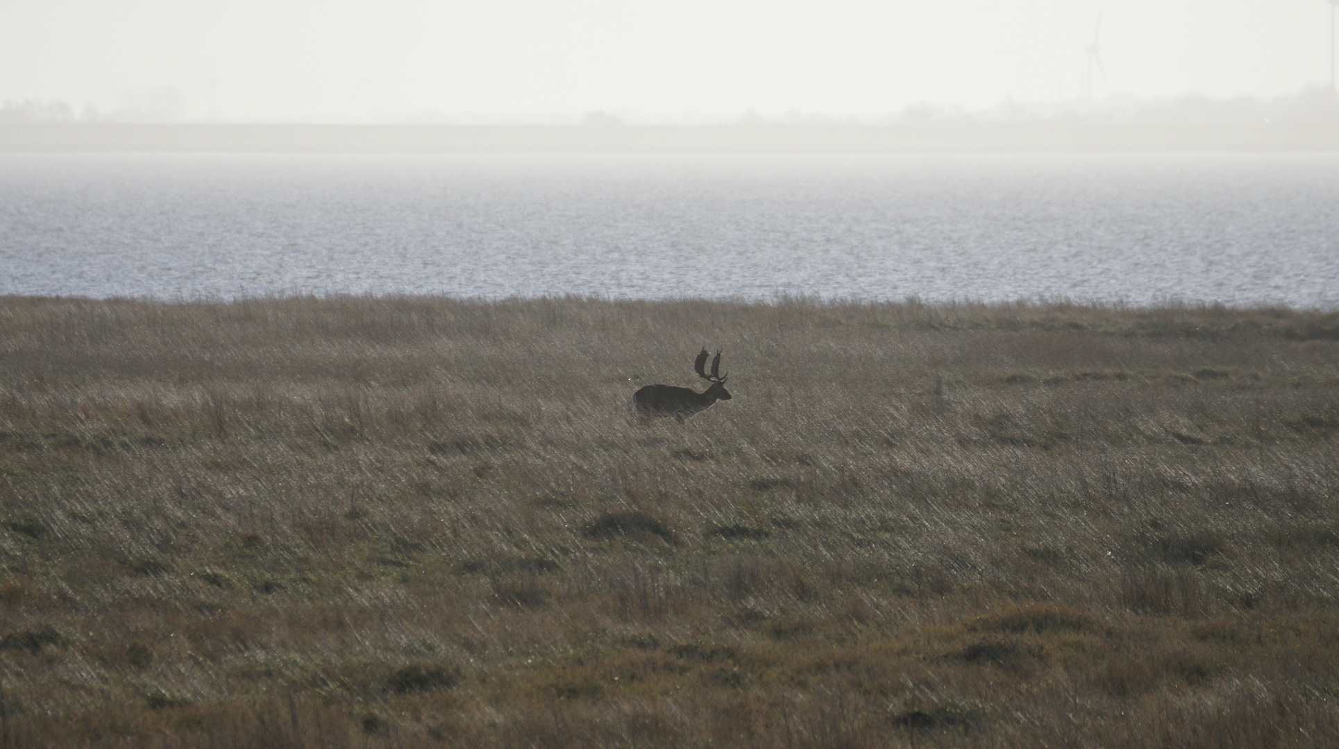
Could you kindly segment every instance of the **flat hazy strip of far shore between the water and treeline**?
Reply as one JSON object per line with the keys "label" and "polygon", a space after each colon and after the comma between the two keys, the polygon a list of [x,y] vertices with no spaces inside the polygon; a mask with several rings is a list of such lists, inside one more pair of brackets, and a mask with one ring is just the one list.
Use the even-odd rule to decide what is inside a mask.
{"label": "flat hazy strip of far shore between the water and treeline", "polygon": [[0,124],[0,154],[1339,152],[1335,124]]}

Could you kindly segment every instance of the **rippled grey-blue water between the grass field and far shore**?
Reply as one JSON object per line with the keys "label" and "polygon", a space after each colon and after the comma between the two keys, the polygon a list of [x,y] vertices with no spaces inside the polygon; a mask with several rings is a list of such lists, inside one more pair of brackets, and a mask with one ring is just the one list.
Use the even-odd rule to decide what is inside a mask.
{"label": "rippled grey-blue water between the grass field and far shore", "polygon": [[3,155],[0,293],[1339,308],[1339,155]]}

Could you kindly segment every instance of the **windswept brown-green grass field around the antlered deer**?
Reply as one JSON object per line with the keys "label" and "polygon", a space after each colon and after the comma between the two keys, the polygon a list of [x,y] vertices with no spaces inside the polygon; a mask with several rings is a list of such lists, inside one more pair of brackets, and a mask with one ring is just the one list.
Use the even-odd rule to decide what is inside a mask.
{"label": "windswept brown-green grass field around the antlered deer", "polygon": [[1339,314],[0,298],[0,749],[1335,746],[1336,435]]}

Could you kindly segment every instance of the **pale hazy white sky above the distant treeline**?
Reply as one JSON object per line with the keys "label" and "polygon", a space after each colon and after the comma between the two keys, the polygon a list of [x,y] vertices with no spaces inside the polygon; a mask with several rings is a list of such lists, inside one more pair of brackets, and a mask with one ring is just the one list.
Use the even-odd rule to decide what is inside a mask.
{"label": "pale hazy white sky above the distant treeline", "polygon": [[872,116],[1079,94],[1328,84],[1327,0],[0,0],[0,100],[104,111],[175,87],[185,116],[746,110]]}

